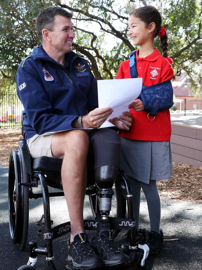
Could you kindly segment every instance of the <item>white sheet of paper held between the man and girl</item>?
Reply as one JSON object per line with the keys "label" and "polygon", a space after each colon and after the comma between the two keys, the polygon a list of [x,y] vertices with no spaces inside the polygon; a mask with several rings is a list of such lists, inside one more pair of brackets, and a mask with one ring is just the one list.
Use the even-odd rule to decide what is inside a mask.
{"label": "white sheet of paper held between the man and girl", "polygon": [[98,80],[99,108],[110,106],[114,110],[100,128],[113,126],[109,119],[129,111],[128,105],[140,95],[141,89],[142,78]]}

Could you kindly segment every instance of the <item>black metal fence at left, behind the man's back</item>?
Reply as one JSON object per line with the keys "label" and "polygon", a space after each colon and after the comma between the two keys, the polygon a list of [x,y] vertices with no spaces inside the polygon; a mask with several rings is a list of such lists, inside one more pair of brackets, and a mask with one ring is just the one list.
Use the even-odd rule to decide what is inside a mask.
{"label": "black metal fence at left, behind the man's back", "polygon": [[0,128],[21,128],[23,109],[15,94],[0,94]]}

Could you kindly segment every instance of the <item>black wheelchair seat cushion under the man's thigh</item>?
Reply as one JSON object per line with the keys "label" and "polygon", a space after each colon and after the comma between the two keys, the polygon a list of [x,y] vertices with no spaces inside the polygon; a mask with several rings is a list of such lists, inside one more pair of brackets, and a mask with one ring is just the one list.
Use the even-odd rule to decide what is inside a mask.
{"label": "black wheelchair seat cushion under the man's thigh", "polygon": [[38,157],[33,159],[33,171],[55,172],[60,173],[62,159],[53,157]]}

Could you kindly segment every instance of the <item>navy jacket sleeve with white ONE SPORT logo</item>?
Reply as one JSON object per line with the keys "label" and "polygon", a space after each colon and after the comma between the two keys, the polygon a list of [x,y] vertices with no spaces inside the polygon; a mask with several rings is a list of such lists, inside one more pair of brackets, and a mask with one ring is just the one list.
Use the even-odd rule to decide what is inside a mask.
{"label": "navy jacket sleeve with white ONE SPORT logo", "polygon": [[73,129],[71,124],[78,116],[53,113],[41,78],[34,68],[28,65],[19,67],[16,84],[17,95],[24,106],[30,125],[37,134]]}

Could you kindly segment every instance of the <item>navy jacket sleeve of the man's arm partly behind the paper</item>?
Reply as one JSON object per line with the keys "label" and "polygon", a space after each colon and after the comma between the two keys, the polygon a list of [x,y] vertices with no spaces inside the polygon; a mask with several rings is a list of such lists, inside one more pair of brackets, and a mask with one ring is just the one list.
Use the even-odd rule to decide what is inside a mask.
{"label": "navy jacket sleeve of the man's arm partly behind the paper", "polygon": [[88,93],[88,112],[98,108],[98,84],[90,71],[90,88]]}

